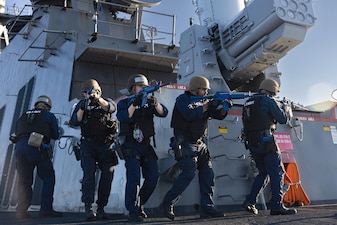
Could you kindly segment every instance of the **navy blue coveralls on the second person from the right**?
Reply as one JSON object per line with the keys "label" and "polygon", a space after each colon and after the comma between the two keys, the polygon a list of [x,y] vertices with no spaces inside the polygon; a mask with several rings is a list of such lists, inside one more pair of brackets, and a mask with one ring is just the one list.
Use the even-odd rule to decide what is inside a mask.
{"label": "navy blue coveralls on the second person from the right", "polygon": [[172,188],[166,193],[163,204],[173,206],[180,198],[183,191],[191,183],[195,172],[199,170],[200,186],[200,211],[208,211],[214,208],[212,199],[214,193],[214,172],[210,153],[204,143],[207,132],[208,119],[222,120],[226,117],[220,113],[221,109],[203,112],[202,105],[191,107],[191,93],[185,91],[176,99],[172,114],[171,127],[174,128],[176,140],[181,139],[182,153],[175,155],[181,173],[174,182]]}

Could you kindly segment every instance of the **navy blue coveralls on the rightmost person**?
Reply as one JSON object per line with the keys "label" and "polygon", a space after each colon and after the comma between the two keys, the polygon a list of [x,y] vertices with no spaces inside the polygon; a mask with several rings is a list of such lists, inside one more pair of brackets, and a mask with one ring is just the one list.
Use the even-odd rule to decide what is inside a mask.
{"label": "navy blue coveralls on the rightmost person", "polygon": [[[257,99],[259,98],[259,101]],[[275,150],[270,151],[268,149],[268,144],[261,141],[258,146],[254,146],[250,141],[248,141],[247,148],[250,150],[253,159],[255,160],[256,167],[259,170],[259,174],[256,176],[250,194],[246,196],[246,202],[255,205],[257,201],[257,196],[264,188],[267,182],[267,176],[269,175],[271,183],[272,198],[270,200],[270,209],[279,210],[282,208],[282,186],[283,186],[283,176],[284,170],[281,162],[281,153],[277,147],[277,144],[272,136],[273,131],[276,129],[276,123],[286,124],[289,117],[281,105],[275,101],[275,99],[267,94],[255,94],[247,102],[254,102],[258,104],[259,114],[255,115],[256,118],[251,118],[252,121],[256,120],[258,124],[274,124],[274,128],[271,131],[271,142],[275,143]],[[257,103],[258,102],[258,103]],[[243,115],[244,119],[244,115]],[[248,124],[243,120],[244,129],[250,129]],[[246,126],[246,127],[245,127]],[[256,128],[257,126],[254,125]],[[252,128],[254,129],[254,128]],[[270,127],[264,127],[262,129],[270,130]],[[263,135],[261,136],[263,138]]]}

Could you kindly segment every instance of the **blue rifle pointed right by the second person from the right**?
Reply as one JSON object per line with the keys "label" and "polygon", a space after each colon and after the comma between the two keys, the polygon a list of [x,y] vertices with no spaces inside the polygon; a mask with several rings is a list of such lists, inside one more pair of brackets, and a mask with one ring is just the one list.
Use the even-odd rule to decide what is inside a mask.
{"label": "blue rifle pointed right by the second person from the right", "polygon": [[207,95],[207,96],[192,96],[192,100],[196,100],[189,104],[189,107],[195,108],[200,101],[207,100],[207,102],[210,102],[212,100],[221,101],[223,105],[223,109],[225,111],[229,110],[229,104],[226,100],[230,99],[244,99],[247,97],[252,96],[250,92],[248,93],[226,93],[226,92],[216,92],[214,95]]}

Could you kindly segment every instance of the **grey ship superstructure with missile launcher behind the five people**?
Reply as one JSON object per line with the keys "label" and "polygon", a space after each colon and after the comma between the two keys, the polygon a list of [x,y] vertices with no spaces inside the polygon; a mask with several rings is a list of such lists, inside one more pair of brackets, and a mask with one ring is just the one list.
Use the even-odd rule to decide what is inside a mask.
{"label": "grey ship superstructure with missile launcher behind the five people", "polygon": [[[81,211],[82,171],[75,157],[80,131],[70,127],[68,121],[80,97],[82,81],[95,78],[103,95],[118,101],[125,95],[120,90],[129,76],[145,73],[149,80],[172,83],[155,93],[170,111],[175,97],[195,75],[208,77],[212,92],[255,92],[265,78],[280,80],[277,62],[304,40],[315,23],[310,0],[232,1],[233,10],[228,10],[226,18],[212,10],[225,9],[225,1],[194,0],[200,23],[191,24],[176,43],[175,15],[152,11],[160,2],[36,0],[26,6],[32,15],[1,13],[1,26],[6,28],[0,32],[6,37],[1,39],[0,54],[0,141],[4,143],[0,147],[1,210],[14,210],[18,197],[14,145],[8,138],[14,132],[15,121],[32,107],[37,96],[51,97],[52,112],[65,131],[54,143],[55,209]],[[142,18],[147,13],[158,19],[168,18],[171,26],[144,24]],[[166,43],[158,43],[156,35],[165,35]],[[249,151],[239,138],[243,100],[234,103],[225,120],[209,121],[208,144],[216,176],[214,201],[219,207],[241,205],[254,177]],[[337,120],[335,105],[331,108],[317,112],[294,104],[291,123],[277,130],[285,155],[296,158],[301,185],[312,202],[337,200],[337,183],[331,179],[337,170],[333,162],[337,158]],[[161,177],[145,206],[149,209],[159,205],[179,173],[169,147],[170,117],[155,122]],[[316,138],[322,140],[324,148]],[[125,212],[125,182],[124,161],[120,160],[107,211]],[[185,191],[177,210],[195,210],[199,190],[194,182],[197,178]],[[36,179],[32,210],[39,208],[40,188]],[[262,194],[259,203],[265,205],[267,201],[268,193]]]}

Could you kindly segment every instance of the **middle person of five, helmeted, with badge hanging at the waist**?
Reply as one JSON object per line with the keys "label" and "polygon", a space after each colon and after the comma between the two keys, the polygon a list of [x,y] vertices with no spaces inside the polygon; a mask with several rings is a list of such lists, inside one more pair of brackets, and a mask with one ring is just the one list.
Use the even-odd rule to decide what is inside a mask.
{"label": "middle person of five, helmeted, with badge hanging at the waist", "polygon": [[[143,74],[132,75],[127,85],[129,93],[135,96],[143,87],[149,86]],[[166,117],[168,113],[167,108],[153,95],[142,106],[143,97],[146,98],[141,95],[125,98],[117,105],[119,136],[125,140],[122,144],[126,167],[125,206],[132,222],[147,218],[144,204],[152,195],[159,177],[158,157],[150,144],[150,138],[155,135],[153,117]],[[141,188],[140,169],[144,178]]]}

